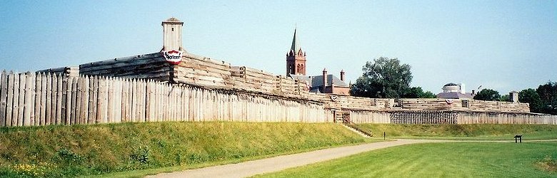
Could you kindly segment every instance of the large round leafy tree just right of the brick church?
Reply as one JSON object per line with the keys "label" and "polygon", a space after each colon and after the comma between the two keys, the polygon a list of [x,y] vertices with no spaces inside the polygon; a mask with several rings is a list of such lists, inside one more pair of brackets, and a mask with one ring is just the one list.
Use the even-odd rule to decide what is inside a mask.
{"label": "large round leafy tree just right of the brick church", "polygon": [[356,80],[350,93],[369,98],[400,98],[409,89],[412,73],[408,64],[398,58],[376,58],[362,68],[363,74]]}

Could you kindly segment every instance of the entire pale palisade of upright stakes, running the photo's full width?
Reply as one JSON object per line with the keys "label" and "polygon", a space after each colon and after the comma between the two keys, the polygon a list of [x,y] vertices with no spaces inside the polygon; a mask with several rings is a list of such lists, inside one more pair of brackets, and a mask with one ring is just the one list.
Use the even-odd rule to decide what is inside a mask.
{"label": "entire pale palisade of upright stakes, running the photo's full width", "polygon": [[328,95],[311,93],[297,98],[151,79],[5,71],[0,75],[0,127],[211,120],[338,122],[344,117],[356,123],[557,124],[555,115],[460,108],[401,110],[387,103],[350,96],[333,101]]}

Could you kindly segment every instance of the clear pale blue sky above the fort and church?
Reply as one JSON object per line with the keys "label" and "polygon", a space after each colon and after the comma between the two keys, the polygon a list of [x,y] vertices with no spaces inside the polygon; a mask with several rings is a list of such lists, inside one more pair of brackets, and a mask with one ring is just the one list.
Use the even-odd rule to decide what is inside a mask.
{"label": "clear pale blue sky above the fort and church", "polygon": [[309,75],[356,81],[385,56],[433,93],[557,81],[557,1],[2,1],[0,68],[39,70],[158,52],[184,21],[189,53],[284,75],[294,27]]}

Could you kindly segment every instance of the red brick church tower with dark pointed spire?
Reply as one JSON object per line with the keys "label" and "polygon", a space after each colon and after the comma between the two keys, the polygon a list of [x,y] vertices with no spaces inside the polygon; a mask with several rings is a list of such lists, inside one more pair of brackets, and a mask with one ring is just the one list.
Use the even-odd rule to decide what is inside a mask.
{"label": "red brick church tower with dark pointed spire", "polygon": [[296,28],[292,38],[292,47],[286,53],[286,75],[306,75],[306,52],[303,52],[298,38],[296,38]]}

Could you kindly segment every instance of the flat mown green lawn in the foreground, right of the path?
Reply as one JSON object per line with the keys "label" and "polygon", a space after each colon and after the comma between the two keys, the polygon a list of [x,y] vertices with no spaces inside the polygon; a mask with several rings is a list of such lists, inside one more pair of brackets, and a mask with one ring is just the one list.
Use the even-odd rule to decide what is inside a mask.
{"label": "flat mown green lawn in the foreground, right of the path", "polygon": [[[540,164],[557,142],[451,142],[390,147],[256,177],[557,177]],[[554,166],[554,164],[553,164]],[[554,168],[554,167],[553,167]]]}

